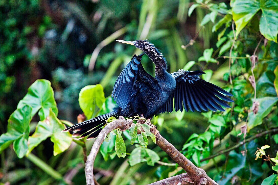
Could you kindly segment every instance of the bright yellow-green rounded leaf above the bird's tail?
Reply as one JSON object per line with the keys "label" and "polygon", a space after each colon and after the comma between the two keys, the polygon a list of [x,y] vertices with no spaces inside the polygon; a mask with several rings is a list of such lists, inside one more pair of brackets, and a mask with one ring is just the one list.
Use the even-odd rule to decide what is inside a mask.
{"label": "bright yellow-green rounded leaf above the bird's tail", "polygon": [[100,84],[83,87],[79,93],[79,105],[85,116],[91,119],[105,102],[103,87]]}

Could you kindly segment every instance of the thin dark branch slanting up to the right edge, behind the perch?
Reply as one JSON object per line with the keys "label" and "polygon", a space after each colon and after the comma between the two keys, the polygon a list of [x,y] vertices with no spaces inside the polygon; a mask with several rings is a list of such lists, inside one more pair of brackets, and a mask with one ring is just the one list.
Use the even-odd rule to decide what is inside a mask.
{"label": "thin dark branch slanting up to the right edge, behind the perch", "polygon": [[212,159],[212,158],[214,158],[214,157],[216,157],[216,156],[219,156],[219,155],[221,155],[221,154],[225,154],[225,153],[227,153],[227,152],[229,152],[229,151],[232,151],[232,150],[234,150],[234,149],[236,149],[236,148],[242,146],[244,143],[250,142],[250,141],[252,141],[253,139],[256,139],[256,138],[258,138],[258,137],[262,137],[262,136],[264,136],[264,135],[266,135],[266,134],[270,134],[270,133],[278,133],[278,127],[274,128],[274,129],[270,129],[270,130],[264,131],[264,132],[261,132],[261,133],[259,133],[259,134],[256,134],[255,136],[249,137],[248,139],[245,140],[245,142],[244,142],[244,141],[241,141],[241,142],[237,143],[237,144],[236,144],[235,146],[233,146],[233,147],[230,147],[230,148],[228,148],[228,149],[219,151],[218,153],[216,153],[216,154],[214,154],[214,155],[211,155],[211,156],[209,156],[209,157],[207,157],[207,158],[201,159],[200,162],[206,161],[206,160],[209,160],[209,159]]}

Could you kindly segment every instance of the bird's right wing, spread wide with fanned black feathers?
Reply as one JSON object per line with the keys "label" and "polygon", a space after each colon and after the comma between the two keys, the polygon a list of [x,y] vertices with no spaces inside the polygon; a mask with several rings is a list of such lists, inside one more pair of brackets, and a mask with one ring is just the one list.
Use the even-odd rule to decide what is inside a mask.
{"label": "bird's right wing, spread wide with fanned black feathers", "polygon": [[221,106],[230,107],[224,101],[234,101],[225,95],[233,95],[210,82],[200,79],[199,75],[202,74],[204,74],[203,71],[183,71],[182,69],[171,73],[176,79],[177,86],[173,95],[169,97],[165,105],[158,111],[158,114],[172,112],[173,106],[175,111],[182,111],[184,107],[187,112],[188,110],[192,112],[195,110],[208,111],[208,109],[225,111]]}

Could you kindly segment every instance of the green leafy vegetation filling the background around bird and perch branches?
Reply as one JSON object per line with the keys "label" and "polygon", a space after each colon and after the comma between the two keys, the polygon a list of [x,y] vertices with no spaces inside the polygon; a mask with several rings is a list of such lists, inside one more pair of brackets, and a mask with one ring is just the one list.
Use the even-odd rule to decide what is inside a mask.
{"label": "green leafy vegetation filling the background around bird and perch branches", "polygon": [[[169,72],[203,70],[234,95],[225,112],[154,117],[163,137],[221,185],[278,183],[277,0],[1,0],[0,10],[1,183],[85,184],[83,150],[93,141],[60,131],[82,112],[89,119],[113,107],[118,74],[141,52],[117,38],[148,38]],[[147,56],[142,63],[153,75]],[[110,134],[95,162],[100,184],[184,172],[150,138],[146,149],[143,135],[131,145],[128,131],[116,134],[126,157],[116,157]]]}

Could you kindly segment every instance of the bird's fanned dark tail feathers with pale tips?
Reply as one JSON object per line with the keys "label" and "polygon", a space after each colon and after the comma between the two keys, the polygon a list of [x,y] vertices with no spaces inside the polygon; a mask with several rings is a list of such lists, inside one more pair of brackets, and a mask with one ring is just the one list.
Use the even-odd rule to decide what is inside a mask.
{"label": "bird's fanned dark tail feathers with pale tips", "polygon": [[119,114],[120,114],[120,109],[116,109],[107,114],[103,114],[103,115],[97,116],[93,119],[89,119],[89,120],[83,121],[81,123],[75,124],[71,127],[64,129],[62,132],[73,131],[74,134],[72,135],[72,137],[80,136],[78,139],[82,139],[82,138],[88,136],[87,140],[92,139],[92,138],[95,138],[98,136],[98,134],[101,131],[101,128],[106,123],[106,120],[109,117],[114,116],[117,118],[118,116],[120,116]]}

